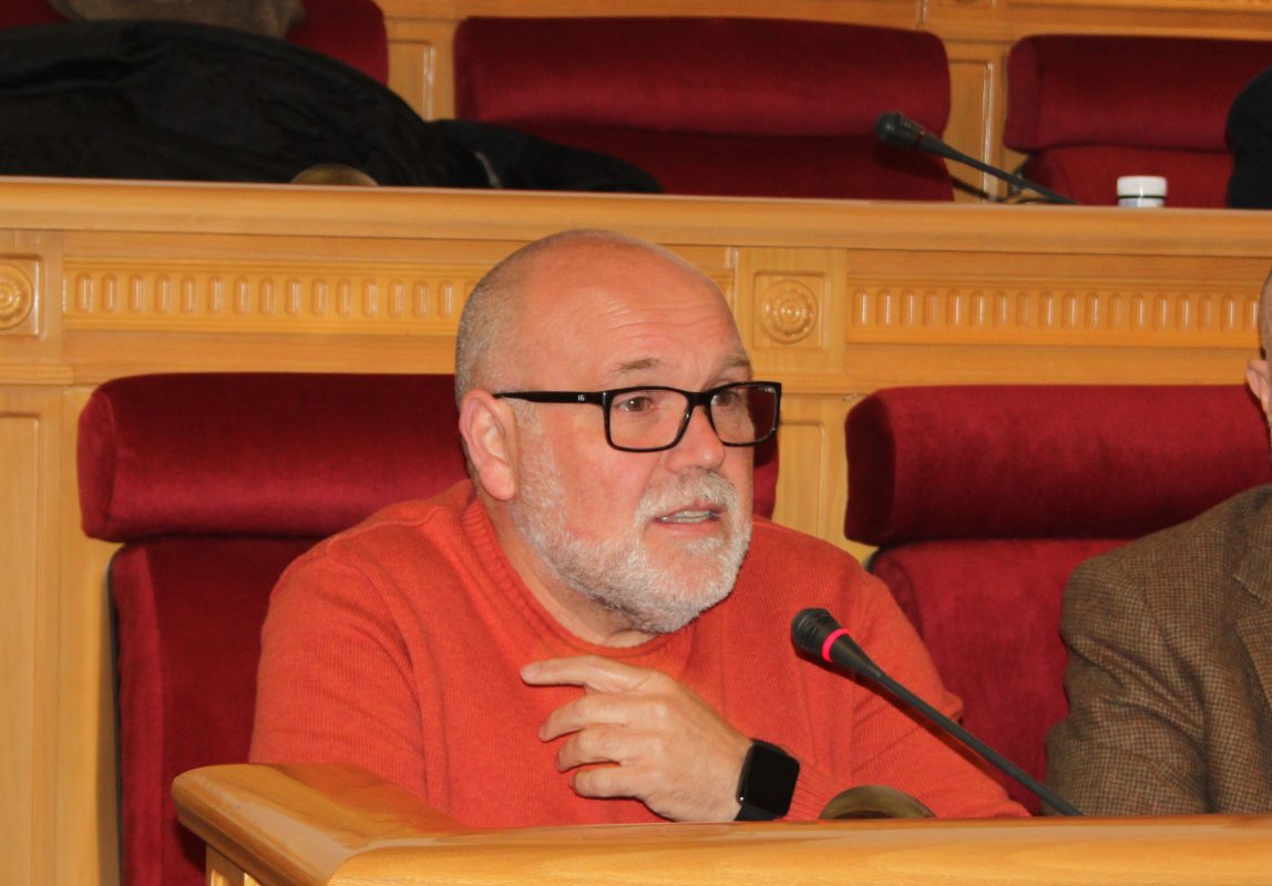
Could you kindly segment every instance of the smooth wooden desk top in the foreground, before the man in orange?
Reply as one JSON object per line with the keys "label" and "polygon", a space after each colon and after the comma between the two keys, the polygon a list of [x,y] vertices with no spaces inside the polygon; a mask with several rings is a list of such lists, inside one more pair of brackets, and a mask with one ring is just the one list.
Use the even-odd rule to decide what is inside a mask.
{"label": "smooth wooden desk top in the foreground, before the man in orange", "polygon": [[471,830],[324,764],[196,769],[174,793],[212,847],[210,882],[1253,886],[1272,871],[1272,816]]}

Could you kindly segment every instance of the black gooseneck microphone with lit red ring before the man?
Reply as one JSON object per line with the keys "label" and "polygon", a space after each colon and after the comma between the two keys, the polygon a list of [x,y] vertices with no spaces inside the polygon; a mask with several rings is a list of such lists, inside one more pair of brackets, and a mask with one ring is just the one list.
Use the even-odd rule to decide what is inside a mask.
{"label": "black gooseneck microphone with lit red ring before the man", "polygon": [[1081,815],[1074,805],[1049,791],[1033,775],[884,674],[870,660],[870,656],[865,653],[865,650],[848,637],[848,632],[834,620],[831,613],[824,609],[801,609],[791,622],[791,641],[794,641],[798,650],[822,661],[838,665],[843,670],[887,689],[898,699],[923,714],[929,722],[944,732],[953,735],[1056,811],[1063,815]]}

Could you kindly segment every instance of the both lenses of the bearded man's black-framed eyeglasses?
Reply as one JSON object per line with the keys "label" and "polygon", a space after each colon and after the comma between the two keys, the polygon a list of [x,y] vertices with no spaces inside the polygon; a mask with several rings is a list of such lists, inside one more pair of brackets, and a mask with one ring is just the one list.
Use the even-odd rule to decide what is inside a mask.
{"label": "both lenses of the bearded man's black-framed eyeglasses", "polygon": [[[681,433],[689,399],[678,390],[627,390],[609,402],[609,436],[616,446],[658,449]],[[762,384],[720,389],[711,398],[711,423],[720,440],[747,446],[772,431],[777,392]]]}

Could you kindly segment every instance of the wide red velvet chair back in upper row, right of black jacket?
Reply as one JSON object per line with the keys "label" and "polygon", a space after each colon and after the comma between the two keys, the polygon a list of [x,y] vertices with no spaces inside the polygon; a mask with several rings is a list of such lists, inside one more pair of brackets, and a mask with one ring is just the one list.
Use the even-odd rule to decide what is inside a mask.
{"label": "wide red velvet chair back in upper row, right of black jacket", "polygon": [[668,193],[953,200],[940,160],[880,145],[902,111],[941,132],[934,34],[740,18],[471,18],[455,116],[617,156]]}

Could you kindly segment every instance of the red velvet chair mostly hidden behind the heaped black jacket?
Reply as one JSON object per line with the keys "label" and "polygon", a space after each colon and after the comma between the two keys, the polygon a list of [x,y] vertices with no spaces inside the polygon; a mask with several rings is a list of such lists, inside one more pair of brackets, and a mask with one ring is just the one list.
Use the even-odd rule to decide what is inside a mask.
{"label": "red velvet chair mostly hidden behind the heaped black jacket", "polygon": [[[389,79],[389,42],[384,13],[374,0],[304,0],[305,20],[287,34],[289,43],[338,58],[380,83]],[[65,19],[48,0],[4,0],[0,28],[53,24]]]}

